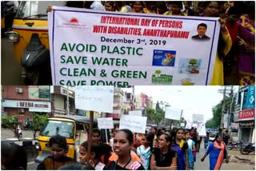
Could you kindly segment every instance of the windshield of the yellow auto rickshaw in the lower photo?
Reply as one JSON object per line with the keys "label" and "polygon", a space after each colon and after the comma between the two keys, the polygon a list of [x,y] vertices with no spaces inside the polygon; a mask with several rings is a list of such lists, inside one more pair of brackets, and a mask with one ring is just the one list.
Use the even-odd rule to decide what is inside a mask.
{"label": "windshield of the yellow auto rickshaw in the lower photo", "polygon": [[46,121],[42,129],[41,136],[52,137],[54,135],[61,135],[66,138],[74,137],[74,123],[70,121]]}

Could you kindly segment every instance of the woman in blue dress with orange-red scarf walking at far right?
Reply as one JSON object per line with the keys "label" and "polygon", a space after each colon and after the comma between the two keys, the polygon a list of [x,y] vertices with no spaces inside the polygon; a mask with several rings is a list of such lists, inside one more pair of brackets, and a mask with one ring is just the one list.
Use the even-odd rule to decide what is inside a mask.
{"label": "woman in blue dress with orange-red scarf walking at far right", "polygon": [[214,141],[210,143],[206,154],[201,158],[201,161],[204,161],[208,154],[210,154],[210,170],[221,169],[222,162],[225,158],[226,163],[229,162],[227,159],[226,145],[219,134],[217,134]]}

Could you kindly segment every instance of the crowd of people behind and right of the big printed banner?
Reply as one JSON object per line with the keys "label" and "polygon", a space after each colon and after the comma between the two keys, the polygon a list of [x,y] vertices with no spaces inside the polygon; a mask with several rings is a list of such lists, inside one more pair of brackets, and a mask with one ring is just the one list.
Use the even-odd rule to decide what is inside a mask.
{"label": "crowd of people behind and right of the big printed banner", "polygon": [[67,6],[198,17],[219,17],[221,32],[211,85],[254,85],[255,2],[67,2]]}

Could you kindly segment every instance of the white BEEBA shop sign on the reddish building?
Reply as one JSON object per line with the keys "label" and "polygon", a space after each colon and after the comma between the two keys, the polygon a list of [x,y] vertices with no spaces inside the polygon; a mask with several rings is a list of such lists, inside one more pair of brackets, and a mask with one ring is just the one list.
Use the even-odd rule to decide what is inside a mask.
{"label": "white BEEBA shop sign on the reddish building", "polygon": [[30,112],[51,112],[50,101],[16,101],[2,100],[2,107],[27,108]]}

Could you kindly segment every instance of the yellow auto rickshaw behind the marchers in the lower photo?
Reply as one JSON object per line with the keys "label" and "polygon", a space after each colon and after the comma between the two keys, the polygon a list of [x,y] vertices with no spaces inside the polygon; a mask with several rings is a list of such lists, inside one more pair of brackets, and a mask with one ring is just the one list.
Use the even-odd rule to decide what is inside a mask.
{"label": "yellow auto rickshaw behind the marchers in the lower photo", "polygon": [[[65,117],[50,117],[38,136],[38,142],[35,148],[38,149],[38,157],[36,162],[42,162],[46,157],[50,156],[50,148],[48,143],[50,137],[54,135],[61,135],[66,137],[68,144],[67,157],[77,159],[76,149],[83,141],[87,140],[86,130],[89,130],[90,118],[78,115],[67,115]],[[94,127],[97,126],[96,119],[94,119]]]}

